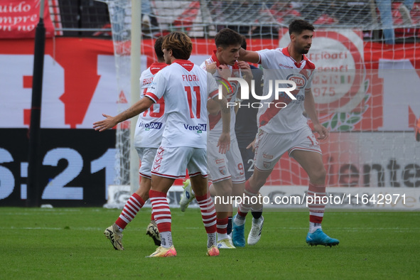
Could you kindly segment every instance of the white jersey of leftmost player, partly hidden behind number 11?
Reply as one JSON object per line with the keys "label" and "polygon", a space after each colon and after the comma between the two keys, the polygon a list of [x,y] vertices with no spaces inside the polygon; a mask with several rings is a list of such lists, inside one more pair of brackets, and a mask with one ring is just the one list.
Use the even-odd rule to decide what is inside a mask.
{"label": "white jersey of leftmost player, partly hidden behind number 11", "polygon": [[[156,73],[166,66],[168,66],[166,63],[153,63],[141,73],[140,99],[144,97]],[[158,148],[160,146],[163,129],[165,129],[164,112],[165,104],[163,103],[163,98],[161,98],[139,115],[136,131],[134,132],[134,146],[139,148]]]}

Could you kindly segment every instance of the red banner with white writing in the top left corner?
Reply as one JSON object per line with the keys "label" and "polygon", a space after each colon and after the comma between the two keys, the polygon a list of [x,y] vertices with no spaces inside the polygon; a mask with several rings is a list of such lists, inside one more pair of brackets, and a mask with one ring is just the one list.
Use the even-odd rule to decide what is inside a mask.
{"label": "red banner with white writing in the top left corner", "polygon": [[[41,0],[0,0],[0,38],[34,38]],[[45,36],[54,35],[48,1],[44,4]]]}

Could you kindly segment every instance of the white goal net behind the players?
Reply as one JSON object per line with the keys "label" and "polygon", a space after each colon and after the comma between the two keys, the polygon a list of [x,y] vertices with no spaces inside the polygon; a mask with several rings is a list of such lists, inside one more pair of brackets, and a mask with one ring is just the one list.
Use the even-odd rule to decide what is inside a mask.
{"label": "white goal net behind the players", "polygon": [[[283,48],[291,20],[306,19],[316,27],[308,53],[318,68],[313,95],[330,131],[320,143],[327,185],[419,188],[420,142],[414,129],[420,117],[420,3],[388,2],[142,1],[141,69],[155,61],[154,40],[171,31],[192,38],[190,60],[200,64],[215,49],[213,38],[221,28],[246,36],[248,50]],[[127,95],[130,1],[107,3],[119,86]],[[119,126],[117,136],[122,178],[129,171],[126,129]],[[308,176],[284,155],[267,185],[308,185]]]}

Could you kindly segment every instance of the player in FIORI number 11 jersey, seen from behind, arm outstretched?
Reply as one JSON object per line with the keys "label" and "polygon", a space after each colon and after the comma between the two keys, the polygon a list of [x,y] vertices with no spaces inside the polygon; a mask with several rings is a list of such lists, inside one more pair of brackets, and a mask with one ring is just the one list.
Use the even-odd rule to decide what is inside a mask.
{"label": "player in FIORI number 11 jersey, seen from behind, arm outstretched", "polygon": [[[216,98],[218,87],[210,74],[191,63],[193,43],[185,33],[173,32],[162,44],[165,62],[171,64],[159,71],[144,97],[129,109],[94,123],[95,130],[104,131],[118,122],[144,112],[162,97],[165,99],[166,126],[161,146],[156,152],[151,171],[149,198],[152,215],[161,236],[161,246],[149,257],[175,257],[171,235],[171,210],[166,193],[176,178],[185,177],[185,170],[200,205],[205,230],[208,233],[208,256],[219,255],[216,244],[216,212],[207,188],[207,101]],[[219,100],[223,131],[218,142],[225,153],[230,146],[230,111],[226,99]]]}

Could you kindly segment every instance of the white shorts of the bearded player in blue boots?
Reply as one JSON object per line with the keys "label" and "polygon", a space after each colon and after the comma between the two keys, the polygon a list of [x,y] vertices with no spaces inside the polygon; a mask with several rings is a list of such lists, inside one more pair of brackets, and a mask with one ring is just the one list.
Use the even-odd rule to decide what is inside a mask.
{"label": "white shorts of the bearded player in blue boots", "polygon": [[315,151],[322,154],[318,140],[309,126],[285,134],[269,134],[259,129],[255,142],[255,168],[260,171],[271,171],[281,156],[294,150]]}

